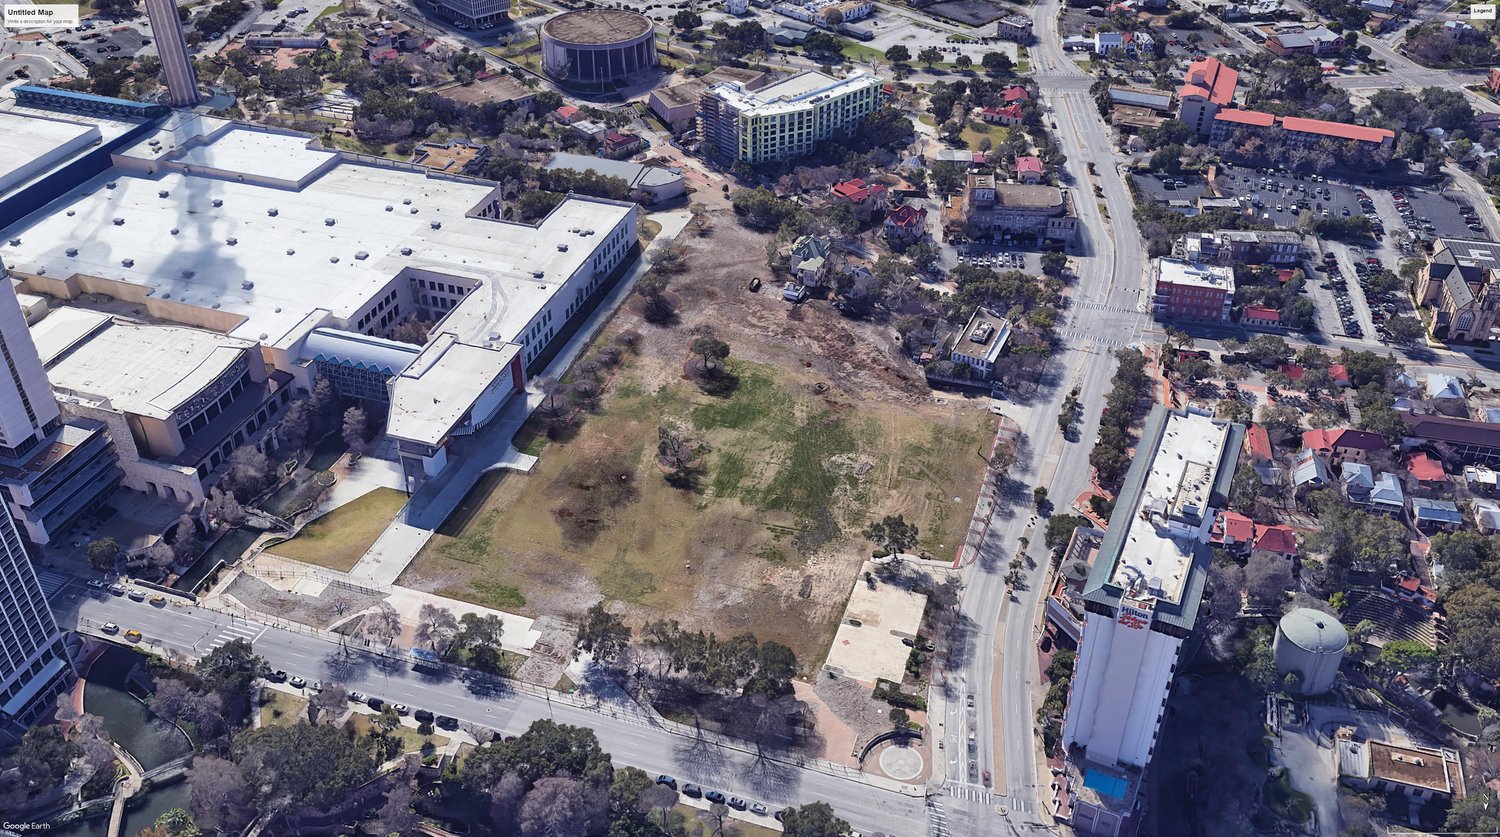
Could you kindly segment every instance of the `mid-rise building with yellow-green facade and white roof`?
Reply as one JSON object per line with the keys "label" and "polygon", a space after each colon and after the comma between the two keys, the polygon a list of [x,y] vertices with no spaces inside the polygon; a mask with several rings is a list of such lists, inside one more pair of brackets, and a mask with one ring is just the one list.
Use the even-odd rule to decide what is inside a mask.
{"label": "mid-rise building with yellow-green facade and white roof", "polygon": [[802,72],[760,90],[724,81],[704,92],[699,136],[726,160],[789,160],[873,114],[880,96],[880,78],[862,70]]}

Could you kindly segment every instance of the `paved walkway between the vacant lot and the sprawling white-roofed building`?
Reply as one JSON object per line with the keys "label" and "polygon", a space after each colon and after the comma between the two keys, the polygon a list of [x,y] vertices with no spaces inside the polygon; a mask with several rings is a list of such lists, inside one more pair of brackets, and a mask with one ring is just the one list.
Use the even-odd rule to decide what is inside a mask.
{"label": "paved walkway between the vacant lot and the sprawling white-roofed building", "polygon": [[[561,375],[578,360],[594,334],[609,322],[615,310],[626,302],[636,280],[650,268],[646,254],[675,238],[688,219],[690,214],[686,210],[652,218],[662,225],[662,232],[645,248],[630,272],[621,278],[603,303],[579,327],[568,345],[558,352],[548,366],[546,375]],[[531,411],[540,406],[543,396],[534,388],[525,390],[524,396],[513,396],[501,416],[472,436],[459,436],[450,444],[448,468],[417,489],[417,494],[386,526],[369,552],[350,570],[351,580],[370,586],[396,584],[400,573],[426,546],[432,532],[442,525],[442,520],[464,501],[486,471],[496,468],[531,471],[537,458],[518,452],[510,442]]]}

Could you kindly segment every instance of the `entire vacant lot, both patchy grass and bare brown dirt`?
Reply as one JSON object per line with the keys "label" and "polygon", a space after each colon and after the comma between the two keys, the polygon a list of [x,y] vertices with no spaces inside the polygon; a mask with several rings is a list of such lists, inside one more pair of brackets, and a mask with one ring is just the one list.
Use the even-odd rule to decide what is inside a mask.
{"label": "entire vacant lot, both patchy grass and bare brown dirt", "polygon": [[[399,584],[530,616],[576,618],[603,598],[636,627],[783,642],[812,669],[870,555],[870,520],[904,514],[920,550],[956,554],[994,434],[987,399],[928,390],[888,324],[783,302],[770,237],[714,220],[678,242],[676,321],[622,308],[580,363],[621,332],[642,338],[579,429],[522,429],[537,468],[476,488]],[[704,327],[730,346],[728,394],[687,375]],[[658,464],[663,426],[706,444],[688,488]]]}

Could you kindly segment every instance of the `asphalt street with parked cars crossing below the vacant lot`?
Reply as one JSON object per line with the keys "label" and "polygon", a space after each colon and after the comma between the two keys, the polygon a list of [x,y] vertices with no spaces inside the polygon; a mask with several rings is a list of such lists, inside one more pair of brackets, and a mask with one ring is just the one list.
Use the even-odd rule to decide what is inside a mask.
{"label": "asphalt street with parked cars crossing below the vacant lot", "polygon": [[762,801],[771,810],[822,800],[864,832],[885,831],[902,837],[927,832],[921,796],[867,784],[850,776],[802,768],[792,760],[758,759],[753,750],[678,735],[652,724],[633,704],[578,706],[550,699],[544,692],[516,692],[504,682],[424,675],[411,670],[405,660],[344,650],[320,636],[177,603],[156,608],[102,592],[75,596],[82,590],[74,582],[54,597],[52,606],[60,624],[94,636],[102,636],[99,626],[104,622],[116,622],[122,630],[140,630],[148,644],[189,657],[204,654],[216,644],[244,638],[254,642],[256,654],[272,668],[309,681],[334,681],[388,702],[507,734],[519,734],[532,722],[550,717],[558,723],[594,729],[616,764],[634,765],[652,776],[664,772],[704,788],[717,788]]}

